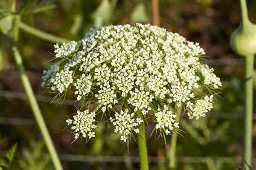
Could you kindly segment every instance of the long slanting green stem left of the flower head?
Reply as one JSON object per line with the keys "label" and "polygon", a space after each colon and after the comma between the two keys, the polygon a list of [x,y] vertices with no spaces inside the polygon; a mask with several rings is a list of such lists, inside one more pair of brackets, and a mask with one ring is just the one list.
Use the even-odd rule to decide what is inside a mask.
{"label": "long slanting green stem left of the flower head", "polygon": [[[18,34],[19,34],[19,22],[20,22],[20,16],[17,15],[14,17],[13,20],[13,39],[15,40],[14,43],[17,43],[18,40]],[[12,51],[15,59],[15,63],[17,65],[17,69],[20,74],[20,79],[23,84],[23,88],[26,92],[26,95],[29,100],[30,107],[32,109],[32,113],[34,114],[35,120],[38,124],[39,130],[41,131],[41,134],[43,136],[44,142],[46,144],[46,147],[48,149],[49,155],[52,159],[52,163],[55,167],[55,170],[63,170],[61,166],[61,162],[58,158],[57,152],[55,150],[55,147],[53,145],[51,136],[49,135],[49,132],[47,130],[47,126],[44,122],[44,118],[42,116],[42,113],[39,109],[38,103],[35,99],[35,94],[33,93],[32,87],[30,85],[29,79],[26,75],[25,68],[23,66],[22,58],[20,56],[20,53],[18,51],[17,45],[12,46]]]}

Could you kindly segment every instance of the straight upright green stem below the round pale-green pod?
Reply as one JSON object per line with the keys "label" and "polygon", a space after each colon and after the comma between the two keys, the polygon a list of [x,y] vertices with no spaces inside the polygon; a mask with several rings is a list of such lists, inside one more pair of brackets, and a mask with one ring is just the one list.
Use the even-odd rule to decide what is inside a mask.
{"label": "straight upright green stem below the round pale-green pod", "polygon": [[243,170],[249,170],[252,156],[253,129],[253,64],[254,55],[244,57],[245,101],[244,101],[244,153]]}

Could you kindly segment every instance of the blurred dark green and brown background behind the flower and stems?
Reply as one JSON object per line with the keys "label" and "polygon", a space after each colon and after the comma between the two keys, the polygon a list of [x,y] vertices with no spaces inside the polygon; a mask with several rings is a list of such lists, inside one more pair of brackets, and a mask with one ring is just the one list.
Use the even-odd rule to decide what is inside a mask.
{"label": "blurred dark green and brown background behind the flower and stems", "polygon": [[[27,4],[27,6],[26,6]],[[249,17],[256,22],[256,1],[247,0]],[[42,35],[54,35],[53,40],[79,40],[90,27],[108,24],[150,23],[151,2],[149,0],[17,0],[16,8],[24,9],[20,25],[20,53],[26,73],[37,94],[37,99],[46,119],[52,139],[60,154],[64,169],[83,170],[137,170],[137,144],[130,143],[129,156],[119,137],[108,130],[98,130],[96,139],[78,141],[70,145],[73,136],[67,130],[65,115],[74,112],[68,94],[61,108],[41,88],[42,70],[49,67],[44,62],[52,59],[52,39]],[[42,166],[51,169],[49,156],[40,142],[29,103],[26,100],[18,72],[10,52],[10,40],[6,37],[12,21],[8,1],[0,1],[0,130],[3,136],[0,149],[3,153],[17,142],[17,157],[13,166],[22,169]],[[243,60],[229,47],[229,37],[241,20],[239,3],[235,0],[159,0],[160,26],[178,32],[188,40],[200,42],[209,56],[215,73],[221,77],[223,98],[215,103],[214,110],[200,121],[182,117],[184,131],[177,139],[178,170],[234,170],[241,165],[242,113],[243,113]],[[30,33],[28,29],[30,28]],[[32,30],[31,30],[32,28]],[[42,34],[43,31],[44,34]],[[39,32],[38,32],[39,31]],[[57,39],[56,39],[57,38]],[[58,39],[61,38],[61,39]],[[254,78],[256,89],[256,77]],[[255,96],[255,91],[253,92]],[[42,94],[42,95],[41,95]],[[57,101],[58,102],[58,101]],[[59,101],[61,102],[61,101]],[[255,111],[254,101],[254,111]],[[255,113],[255,112],[254,112]],[[253,139],[256,124],[253,124]],[[102,124],[102,127],[105,127]],[[150,127],[149,127],[150,128]],[[112,135],[111,137],[109,137]],[[150,130],[148,130],[148,136]],[[169,140],[169,139],[168,139]],[[29,143],[33,143],[30,144]],[[256,150],[253,143],[253,153]],[[25,146],[30,146],[29,149]],[[41,147],[41,150],[39,149]],[[166,170],[166,152],[163,139],[148,141],[150,167]],[[26,151],[24,151],[26,150]],[[253,154],[255,156],[255,154]],[[32,159],[33,158],[33,159]],[[4,159],[6,161],[6,159]],[[23,163],[21,163],[23,162]],[[17,168],[12,167],[12,168]],[[4,167],[5,168],[5,167]],[[23,169],[24,169],[23,168]],[[253,168],[256,159],[253,158]]]}

